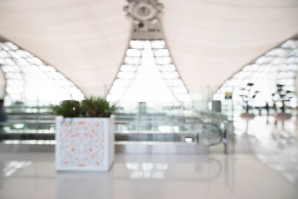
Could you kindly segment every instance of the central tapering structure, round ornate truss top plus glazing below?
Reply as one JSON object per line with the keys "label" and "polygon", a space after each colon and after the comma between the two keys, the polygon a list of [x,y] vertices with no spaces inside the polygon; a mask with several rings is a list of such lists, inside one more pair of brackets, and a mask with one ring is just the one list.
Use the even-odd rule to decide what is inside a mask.
{"label": "central tapering structure, round ornate truss top plus glazing below", "polygon": [[192,100],[173,64],[159,21],[157,0],[131,0],[124,7],[134,21],[132,40],[107,100],[120,107],[191,107]]}

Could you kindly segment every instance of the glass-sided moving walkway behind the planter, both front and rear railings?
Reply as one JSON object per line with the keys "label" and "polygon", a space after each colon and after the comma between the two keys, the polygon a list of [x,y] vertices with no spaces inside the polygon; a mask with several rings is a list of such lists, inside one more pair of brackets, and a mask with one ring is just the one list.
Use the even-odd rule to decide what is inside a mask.
{"label": "glass-sided moving walkway behind the planter, both front and rear railings", "polygon": [[[6,107],[6,112],[5,139],[55,139],[55,115],[46,107]],[[192,111],[187,116],[118,111],[114,116],[116,141],[168,141],[213,146],[222,142],[228,123],[225,115],[211,111]]]}

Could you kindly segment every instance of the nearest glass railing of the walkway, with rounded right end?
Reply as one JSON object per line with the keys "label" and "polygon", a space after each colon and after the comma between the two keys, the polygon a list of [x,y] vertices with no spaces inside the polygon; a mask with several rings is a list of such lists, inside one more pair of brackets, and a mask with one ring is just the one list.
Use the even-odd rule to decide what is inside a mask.
{"label": "nearest glass railing of the walkway, with rounded right end", "polygon": [[[3,124],[5,140],[55,140],[54,121],[36,122],[19,120]],[[223,132],[210,123],[162,124],[142,121],[115,122],[115,141],[179,142],[213,146],[223,140]]]}

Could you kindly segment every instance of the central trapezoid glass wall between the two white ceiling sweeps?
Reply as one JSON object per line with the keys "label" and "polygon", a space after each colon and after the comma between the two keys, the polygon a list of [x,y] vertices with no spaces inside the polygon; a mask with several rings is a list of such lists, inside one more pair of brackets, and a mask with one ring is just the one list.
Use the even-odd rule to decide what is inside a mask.
{"label": "central trapezoid glass wall between the two white ceiling sweeps", "polygon": [[107,100],[119,107],[192,106],[163,40],[130,41]]}

